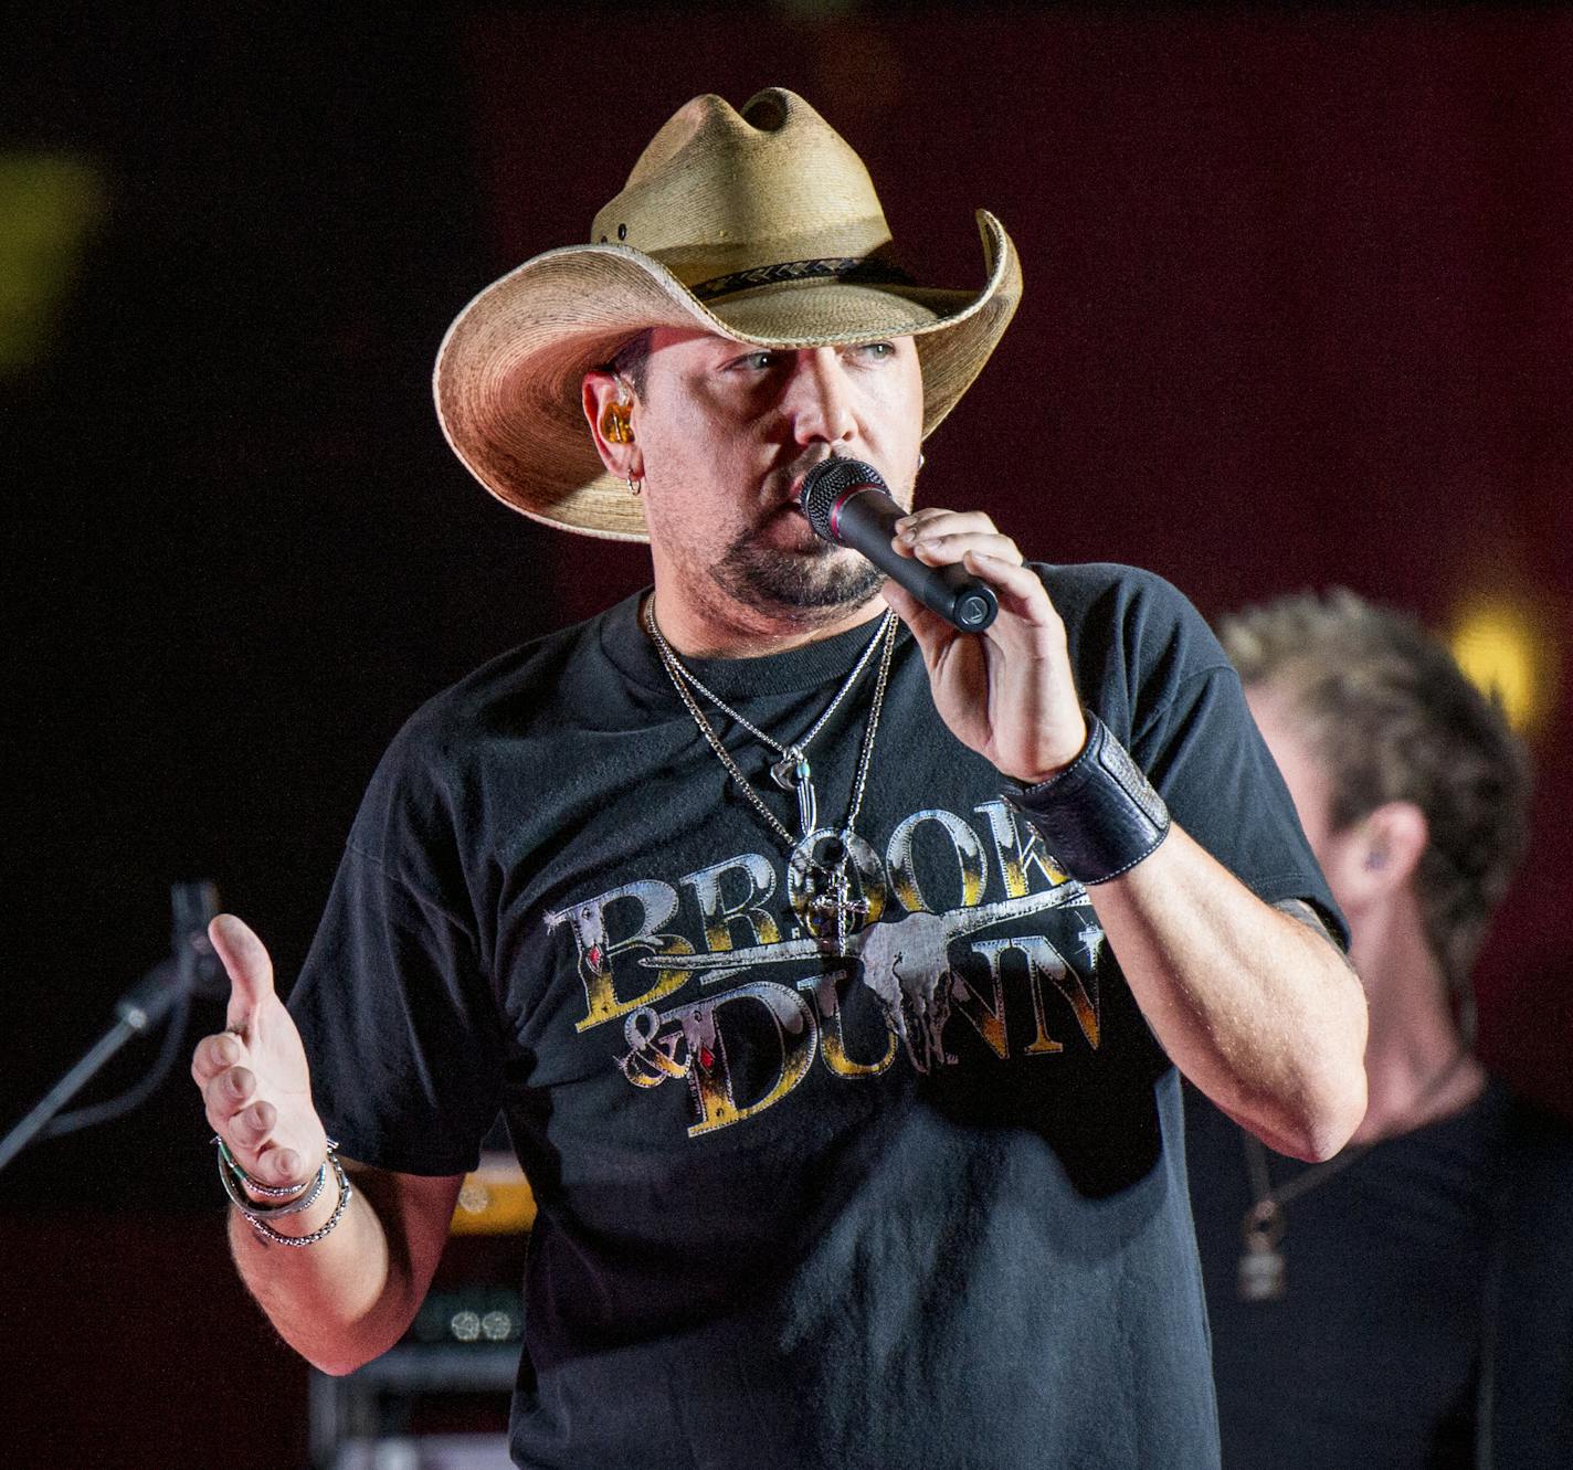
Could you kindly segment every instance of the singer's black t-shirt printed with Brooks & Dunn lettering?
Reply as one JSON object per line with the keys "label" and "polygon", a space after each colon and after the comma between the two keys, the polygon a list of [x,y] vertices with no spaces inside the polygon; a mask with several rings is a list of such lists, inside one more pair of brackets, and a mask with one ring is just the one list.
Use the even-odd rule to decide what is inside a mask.
{"label": "singer's black t-shirt printed with Brooks & Dunn lettering", "polygon": [[[1175,819],[1332,913],[1195,612],[1126,568],[1040,572]],[[411,720],[291,998],[348,1156],[458,1173],[505,1112],[540,1206],[518,1462],[1213,1464],[1178,1080],[1087,893],[903,630],[851,844],[870,912],[824,953],[635,605]],[[796,737],[871,630],[691,667]],[[871,682],[810,748],[827,829]],[[709,715],[793,825],[774,753]]]}

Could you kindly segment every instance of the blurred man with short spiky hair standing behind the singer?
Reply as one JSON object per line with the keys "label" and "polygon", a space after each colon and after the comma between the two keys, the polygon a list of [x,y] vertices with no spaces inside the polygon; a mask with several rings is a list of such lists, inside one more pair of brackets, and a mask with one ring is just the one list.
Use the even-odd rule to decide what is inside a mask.
{"label": "blurred man with short spiky hair standing behind the singer", "polygon": [[1351,593],[1221,637],[1370,1003],[1370,1105],[1335,1159],[1271,1157],[1189,1099],[1224,1464],[1567,1465],[1573,1148],[1472,1050],[1526,752],[1436,638]]}

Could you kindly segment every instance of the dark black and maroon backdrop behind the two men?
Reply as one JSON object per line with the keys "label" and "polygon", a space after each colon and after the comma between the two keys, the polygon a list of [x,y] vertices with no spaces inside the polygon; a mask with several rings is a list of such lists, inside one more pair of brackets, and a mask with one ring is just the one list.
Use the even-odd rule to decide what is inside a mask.
{"label": "dark black and maroon backdrop behind the two men", "polygon": [[[1573,1113],[1567,13],[327,9],[35,6],[0,35],[0,153],[71,157],[98,201],[0,376],[0,1127],[165,953],[171,880],[216,879],[291,976],[409,711],[645,580],[467,476],[431,362],[470,294],[587,237],[680,102],[772,83],[862,153],[920,278],[982,280],[975,206],[1021,248],[930,500],[1208,615],[1328,583],[1442,632],[1482,596],[1526,610],[1535,836],[1482,1033]],[[305,1373],[233,1281],[186,1077],[220,1014],[198,1001],[132,1115],[0,1176],[5,1366],[41,1385],[14,1464],[304,1454]]]}

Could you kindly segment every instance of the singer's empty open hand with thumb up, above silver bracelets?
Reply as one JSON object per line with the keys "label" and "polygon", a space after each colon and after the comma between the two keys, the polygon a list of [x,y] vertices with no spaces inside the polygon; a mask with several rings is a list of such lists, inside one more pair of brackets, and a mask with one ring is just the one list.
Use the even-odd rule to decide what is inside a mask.
{"label": "singer's empty open hand with thumb up, above silver bracelets", "polygon": [[208,937],[230,975],[227,1030],[192,1053],[208,1123],[258,1184],[304,1184],[327,1156],[327,1135],[300,1033],[274,990],[263,942],[233,913],[220,913]]}

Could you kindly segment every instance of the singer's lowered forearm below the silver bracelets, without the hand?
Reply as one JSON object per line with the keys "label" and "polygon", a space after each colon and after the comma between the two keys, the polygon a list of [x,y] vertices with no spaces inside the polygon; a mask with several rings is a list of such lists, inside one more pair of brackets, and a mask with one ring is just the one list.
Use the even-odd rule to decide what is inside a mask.
{"label": "singer's lowered forearm below the silver bracelets, without the hand", "polygon": [[[418,1181],[420,1185],[442,1181]],[[247,1289],[304,1358],[324,1373],[349,1373],[393,1346],[409,1327],[431,1280],[426,1266],[398,1245],[384,1217],[398,1218],[403,1176],[355,1170],[354,1195],[338,1225],[311,1245],[280,1245],[239,1211],[230,1212],[230,1248]],[[327,1222],[337,1192],[310,1211],[271,1222],[302,1236]],[[451,1207],[451,1206],[450,1206]]]}

